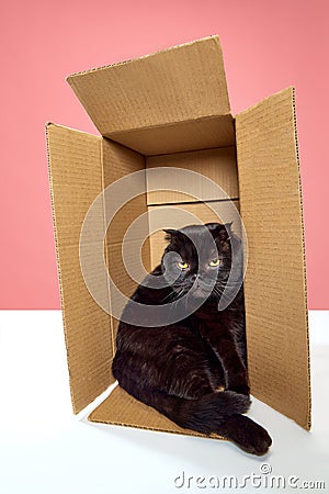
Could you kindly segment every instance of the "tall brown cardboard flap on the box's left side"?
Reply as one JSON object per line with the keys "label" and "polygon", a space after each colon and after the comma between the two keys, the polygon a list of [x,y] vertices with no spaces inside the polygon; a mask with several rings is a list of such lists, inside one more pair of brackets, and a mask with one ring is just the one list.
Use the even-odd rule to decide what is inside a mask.
{"label": "tall brown cardboard flap on the box's left side", "polygon": [[[46,131],[70,390],[78,413],[113,382],[111,317],[89,293],[79,262],[81,225],[102,191],[102,138],[54,124]],[[105,278],[98,282],[107,290]]]}

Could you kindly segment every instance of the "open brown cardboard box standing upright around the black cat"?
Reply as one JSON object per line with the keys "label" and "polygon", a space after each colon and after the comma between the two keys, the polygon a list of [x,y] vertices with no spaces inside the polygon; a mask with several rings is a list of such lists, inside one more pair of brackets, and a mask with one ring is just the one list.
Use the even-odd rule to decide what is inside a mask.
{"label": "open brown cardboard box standing upright around the black cat", "polygon": [[[79,263],[81,226],[97,195],[117,179],[145,170],[144,193],[122,207],[104,242],[111,276],[127,295],[136,282],[125,271],[121,247],[134,218],[173,204],[202,222],[216,222],[208,205],[218,202],[222,220],[230,221],[227,201],[211,192],[201,202],[174,191],[148,191],[147,170],[158,169],[151,180],[160,186],[161,167],[179,167],[219,183],[240,209],[249,244],[245,296],[251,392],[309,429],[306,274],[294,89],[287,88],[232,116],[217,36],[76,74],[68,82],[101,134],[53,123],[46,127],[75,413],[114,381],[111,364],[117,319],[94,301]],[[197,189],[197,183],[194,186]],[[102,207],[105,218],[105,200]],[[168,226],[170,221],[169,216]],[[147,270],[159,262],[163,242],[163,234],[158,232],[144,243]],[[137,245],[137,238],[131,240],[133,263]],[[107,280],[100,279],[99,283],[106,284]],[[111,290],[107,293],[110,308]],[[89,419],[197,435],[181,429],[118,386]]]}

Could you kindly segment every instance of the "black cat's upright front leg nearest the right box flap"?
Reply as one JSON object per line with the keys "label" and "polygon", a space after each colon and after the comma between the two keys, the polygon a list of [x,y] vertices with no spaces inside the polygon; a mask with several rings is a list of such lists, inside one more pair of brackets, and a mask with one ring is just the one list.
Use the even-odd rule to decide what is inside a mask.
{"label": "black cat's upright front leg nearest the right box flap", "polygon": [[248,395],[250,393],[248,372],[239,355],[234,337],[227,332],[219,333],[218,327],[204,327],[202,335],[222,363],[226,389]]}

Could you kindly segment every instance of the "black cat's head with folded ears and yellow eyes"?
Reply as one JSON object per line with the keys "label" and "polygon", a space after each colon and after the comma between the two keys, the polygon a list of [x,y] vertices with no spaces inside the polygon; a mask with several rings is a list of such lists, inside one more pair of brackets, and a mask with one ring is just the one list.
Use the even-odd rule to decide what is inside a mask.
{"label": "black cat's head with folded ears and yellow eyes", "polygon": [[[189,297],[194,300],[219,300],[231,271],[232,246],[238,245],[241,251],[231,223],[207,223],[164,232],[169,244],[161,260],[162,272],[166,279],[172,280],[170,285],[178,296],[189,292]],[[237,256],[236,261],[240,262]],[[241,271],[241,266],[238,270]]]}

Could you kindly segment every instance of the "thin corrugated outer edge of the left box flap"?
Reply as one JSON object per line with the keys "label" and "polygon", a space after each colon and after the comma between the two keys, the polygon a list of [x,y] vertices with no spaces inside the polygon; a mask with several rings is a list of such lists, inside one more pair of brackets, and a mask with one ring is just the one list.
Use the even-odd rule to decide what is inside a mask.
{"label": "thin corrugated outer edge of the left box flap", "polygon": [[[64,326],[64,336],[65,336],[65,348],[66,348],[66,357],[67,357],[67,366],[69,373],[69,382],[70,382],[70,396],[73,413],[77,414],[80,412],[75,406],[75,398],[71,386],[71,374],[70,374],[70,366],[69,366],[69,356],[68,356],[68,340],[67,340],[67,328],[65,321],[65,303],[64,303],[64,294],[63,294],[63,283],[61,283],[61,272],[59,265],[59,249],[58,249],[58,237],[57,237],[57,224],[56,224],[56,213],[55,213],[55,204],[54,204],[54,187],[53,187],[53,175],[52,175],[52,166],[50,166],[50,147],[49,147],[49,127],[54,124],[53,122],[46,122],[46,147],[47,147],[47,162],[48,162],[48,180],[49,180],[49,189],[50,189],[50,205],[52,205],[52,216],[53,216],[53,231],[54,231],[54,240],[55,240],[55,251],[56,251],[56,265],[57,265],[57,274],[58,274],[58,283],[59,283],[59,296],[60,296],[60,307],[61,307],[61,319]],[[59,125],[57,125],[59,126]]]}

